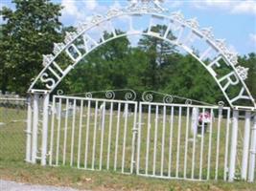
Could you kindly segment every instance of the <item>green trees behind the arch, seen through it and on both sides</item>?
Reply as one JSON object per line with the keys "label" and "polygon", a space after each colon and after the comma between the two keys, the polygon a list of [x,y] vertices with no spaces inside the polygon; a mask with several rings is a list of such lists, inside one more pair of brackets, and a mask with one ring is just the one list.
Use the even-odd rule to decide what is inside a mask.
{"label": "green trees behind the arch, seen through it and on both sides", "polygon": [[[6,21],[0,28],[0,90],[24,95],[43,68],[42,54],[52,53],[53,43],[61,42],[73,28],[60,23],[62,7],[49,0],[12,3],[14,11],[0,11]],[[245,83],[256,97],[256,53],[239,56],[239,64],[250,69]],[[137,47],[127,37],[108,42],[86,56],[58,88],[66,94],[130,88],[210,103],[224,100],[212,76],[193,56],[149,36],[141,36]]]}

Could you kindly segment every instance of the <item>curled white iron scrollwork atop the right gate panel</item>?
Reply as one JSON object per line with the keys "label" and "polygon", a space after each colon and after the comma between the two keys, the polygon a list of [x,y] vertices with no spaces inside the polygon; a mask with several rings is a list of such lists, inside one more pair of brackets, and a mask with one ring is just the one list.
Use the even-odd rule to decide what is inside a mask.
{"label": "curled white iron scrollwork atop the right gate panel", "polygon": [[163,102],[163,103],[183,103],[186,105],[199,104],[199,105],[213,105],[203,101],[190,99],[182,96],[168,95],[164,93],[147,91],[142,94],[142,100],[145,102]]}

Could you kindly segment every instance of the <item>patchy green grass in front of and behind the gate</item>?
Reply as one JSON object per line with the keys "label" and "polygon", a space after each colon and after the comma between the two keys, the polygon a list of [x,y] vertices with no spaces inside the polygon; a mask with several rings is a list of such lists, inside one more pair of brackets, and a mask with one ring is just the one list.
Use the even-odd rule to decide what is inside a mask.
{"label": "patchy green grass in front of and behind the gate", "polygon": [[[92,110],[92,112],[94,112]],[[83,108],[83,126],[81,128],[81,168],[84,165],[84,150],[85,144],[84,139],[86,138],[86,108]],[[114,112],[116,116],[116,111]],[[122,114],[121,114],[122,115]],[[106,115],[107,116],[107,115]],[[153,136],[154,136],[154,114],[151,114],[151,144],[150,144],[150,153],[149,153],[149,173],[152,171],[152,155],[153,155]],[[244,181],[236,181],[235,183],[227,183],[224,181],[206,181],[206,182],[193,182],[193,181],[182,181],[182,180],[158,180],[153,178],[143,178],[140,176],[134,175],[122,175],[121,171],[121,163],[122,163],[122,149],[123,149],[123,137],[119,136],[119,149],[118,149],[118,160],[117,160],[117,172],[114,172],[114,153],[115,147],[114,143],[116,140],[116,117],[113,118],[113,127],[112,127],[112,137],[110,147],[110,170],[105,171],[106,168],[106,156],[107,156],[107,141],[108,141],[108,132],[109,132],[109,115],[105,117],[105,136],[104,136],[104,149],[103,149],[103,170],[104,171],[84,171],[78,170],[76,168],[78,161],[78,143],[79,143],[79,121],[80,121],[80,112],[77,111],[77,116],[75,119],[75,137],[74,137],[74,160],[73,160],[73,168],[70,167],[70,152],[71,152],[71,138],[72,138],[72,118],[69,117],[68,120],[68,131],[67,131],[67,148],[66,148],[66,163],[65,165],[60,165],[59,167],[41,167],[39,165],[30,165],[24,162],[25,159],[25,134],[24,130],[26,128],[26,123],[24,119],[26,118],[26,111],[20,110],[17,111],[15,109],[0,109],[0,117],[1,121],[4,122],[5,125],[0,126],[0,179],[4,180],[17,180],[17,181],[25,181],[32,183],[42,183],[42,184],[51,184],[51,185],[66,185],[72,186],[79,189],[94,189],[94,190],[256,190],[255,183],[246,183]],[[161,117],[161,115],[159,115]],[[93,117],[91,117],[93,118]],[[99,118],[98,118],[99,119]],[[130,165],[130,155],[131,155],[131,129],[132,129],[132,119],[133,116],[128,117],[128,137],[126,143],[126,163],[125,163],[125,171],[129,171]],[[181,125],[181,141],[180,141],[180,152],[181,156],[179,158],[179,174],[182,176],[183,173],[183,164],[184,164],[184,145],[185,145],[185,117],[182,117],[182,125]],[[162,120],[159,118],[158,122],[158,138],[157,138],[157,152],[156,152],[156,174],[160,172],[160,158],[161,158],[161,143],[162,143]],[[99,120],[98,120],[99,121]],[[124,117],[122,117],[120,121],[120,135],[123,135],[124,132]],[[140,173],[145,171],[145,156],[146,156],[146,139],[147,139],[147,123],[148,116],[143,117],[143,125],[142,128],[142,137],[141,137],[141,159],[140,159]],[[241,125],[243,125],[243,120],[241,121]],[[88,161],[87,168],[91,168],[92,165],[92,137],[93,137],[93,120],[90,122],[90,134],[89,138],[89,147],[88,147]],[[213,131],[213,150],[212,150],[212,165],[211,172],[214,172],[215,169],[215,157],[216,157],[216,138],[217,138],[217,120],[214,122],[214,131]],[[167,146],[165,149],[164,155],[164,173],[167,173],[168,169],[168,146],[169,146],[169,130],[170,122],[166,122],[166,136],[165,136],[165,145]],[[177,130],[177,117],[175,117],[175,126],[174,126],[174,141],[173,141],[173,155],[174,159],[172,160],[172,172],[175,172],[175,152],[176,152],[176,130]],[[58,120],[55,120],[55,135],[54,139],[57,140],[57,128],[58,128]],[[60,132],[59,134],[59,157],[58,164],[62,164],[63,162],[63,138],[64,138],[64,118],[61,118],[60,122]],[[100,164],[100,147],[101,147],[101,133],[102,131],[97,128],[97,136],[96,136],[96,153],[95,153],[95,169],[99,169]],[[225,119],[223,119],[221,124],[221,145],[220,145],[220,170],[222,172],[223,168],[223,159],[224,159],[224,135],[225,135]],[[240,135],[242,133],[240,132]],[[49,137],[51,136],[51,132],[49,132]],[[209,134],[205,135],[204,141],[207,144],[204,146],[203,155],[203,169],[205,169],[207,162],[207,153],[208,153],[208,138]],[[197,138],[197,148],[200,146],[200,138]],[[40,138],[39,138],[40,141]],[[49,143],[50,145],[50,143]],[[239,145],[240,147],[240,145]],[[57,161],[56,159],[56,151],[57,151],[57,142],[54,142],[54,151],[53,151],[53,163]],[[198,162],[198,150],[196,153],[196,160]],[[239,154],[241,157],[241,153]],[[191,156],[192,156],[192,142],[188,143],[188,177],[191,175]],[[198,165],[196,165],[195,173],[198,174]],[[203,170],[202,176],[205,178],[206,171]],[[222,179],[223,174],[220,173],[219,179]],[[214,178],[214,173],[211,173],[211,178]]]}

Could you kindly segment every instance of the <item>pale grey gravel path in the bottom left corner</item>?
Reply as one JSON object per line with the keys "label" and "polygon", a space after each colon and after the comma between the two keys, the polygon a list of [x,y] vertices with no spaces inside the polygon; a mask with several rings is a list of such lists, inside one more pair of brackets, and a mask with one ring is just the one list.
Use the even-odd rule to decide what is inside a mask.
{"label": "pale grey gravel path in the bottom left corner", "polygon": [[0,180],[0,191],[77,191],[68,187],[31,185],[14,181]]}

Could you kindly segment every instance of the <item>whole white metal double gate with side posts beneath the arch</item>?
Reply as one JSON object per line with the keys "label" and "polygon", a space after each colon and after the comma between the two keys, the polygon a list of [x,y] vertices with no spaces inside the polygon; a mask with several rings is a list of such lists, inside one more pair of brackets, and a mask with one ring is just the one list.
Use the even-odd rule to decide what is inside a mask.
{"label": "whole white metal double gate with side posts beneath the arch", "polygon": [[254,180],[253,111],[54,96],[49,112],[43,103],[42,115],[36,96],[29,104],[29,162],[175,180]]}

